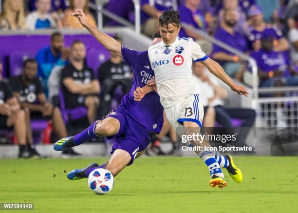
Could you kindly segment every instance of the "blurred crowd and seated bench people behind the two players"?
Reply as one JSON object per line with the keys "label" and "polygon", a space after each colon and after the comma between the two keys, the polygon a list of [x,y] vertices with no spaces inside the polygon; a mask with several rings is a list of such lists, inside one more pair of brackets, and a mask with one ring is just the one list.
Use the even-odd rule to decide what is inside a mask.
{"label": "blurred crowd and seated bench people behind the two players", "polygon": [[[76,9],[82,9],[89,22],[96,26],[96,13],[89,9],[88,3],[89,0],[4,0],[0,30],[82,29],[78,20],[70,16]],[[158,18],[162,11],[172,8],[173,1],[140,0],[140,3],[142,33],[151,37],[158,29]],[[177,3],[181,22],[255,58],[260,86],[298,85],[298,0],[178,0]],[[110,0],[105,8],[124,19],[134,21],[131,0]],[[104,25],[120,24],[105,18]],[[242,81],[243,73],[250,69],[238,55],[212,45],[186,28],[182,27],[179,36],[190,37],[200,44],[205,53],[218,61],[230,77]],[[118,37],[115,39],[122,42]],[[215,121],[231,127],[231,118],[236,115],[236,118],[244,120],[242,127],[253,125],[253,110],[224,107],[224,88],[205,74],[204,67],[194,65],[193,70],[198,85],[209,88],[204,97],[205,117],[208,117],[205,127],[214,127]],[[24,61],[23,74],[9,79],[9,86],[1,81],[1,93],[8,94],[0,96],[0,101],[3,102],[0,106],[0,118],[5,121],[1,128],[14,126],[20,144],[20,157],[36,155],[35,149],[22,147],[26,141],[32,144],[30,126],[19,130],[18,124],[14,122],[17,118],[12,116],[23,116],[21,119],[27,123],[37,117],[49,119],[53,122],[56,135],[64,137],[68,134],[59,109],[60,89],[65,108],[86,108],[85,124],[81,120],[74,124],[84,128],[95,119],[107,115],[111,110],[116,88],[120,85],[122,95],[126,94],[130,89],[131,78],[130,66],[113,54],[97,71],[92,70],[86,64],[84,43],[75,41],[70,49],[65,48],[63,35],[56,32],[52,34],[49,46],[41,49],[35,59]],[[18,104],[19,107],[15,107],[18,113],[7,112],[8,106]],[[173,132],[167,123],[159,136],[152,136],[152,150],[156,154],[163,154],[159,148],[163,136],[169,134],[170,140],[176,140]],[[22,139],[24,135],[27,138],[25,141]],[[173,143],[173,150],[175,146]],[[24,150],[29,150],[29,154],[24,154]],[[78,155],[73,150],[65,154]]]}

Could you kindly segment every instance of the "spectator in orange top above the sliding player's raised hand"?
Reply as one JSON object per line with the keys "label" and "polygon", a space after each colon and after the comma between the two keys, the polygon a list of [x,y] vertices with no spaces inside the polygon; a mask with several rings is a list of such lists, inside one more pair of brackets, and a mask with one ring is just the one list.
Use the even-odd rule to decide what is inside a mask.
{"label": "spectator in orange top above the sliding player's raised hand", "polygon": [[96,21],[93,15],[89,12],[89,0],[70,0],[69,9],[66,9],[64,12],[64,17],[62,19],[62,25],[64,28],[74,28],[74,29],[83,29],[84,27],[80,24],[79,20],[75,17],[72,17],[71,14],[77,9],[81,9],[86,14],[86,18],[89,23],[96,27]]}

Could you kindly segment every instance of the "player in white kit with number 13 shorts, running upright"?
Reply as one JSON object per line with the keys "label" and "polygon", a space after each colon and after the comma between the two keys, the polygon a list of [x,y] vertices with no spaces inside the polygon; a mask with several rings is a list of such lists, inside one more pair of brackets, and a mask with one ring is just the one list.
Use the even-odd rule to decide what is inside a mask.
{"label": "player in white kit with number 13 shorts, running upright", "polygon": [[[235,84],[217,62],[208,58],[191,38],[177,37],[181,28],[179,12],[164,11],[159,18],[159,26],[162,42],[150,46],[148,55],[161,104],[169,122],[178,128],[178,135],[189,136],[200,133],[204,108],[200,102],[200,90],[193,81],[192,62],[203,63],[213,75],[223,80],[239,95],[248,96],[248,93],[243,86]],[[138,93],[145,95],[142,89]],[[242,173],[233,165],[230,155],[220,155],[223,162],[228,161],[220,164],[216,160],[218,153],[208,151],[211,147],[208,141],[193,138],[190,142],[199,148],[194,151],[207,165],[212,178],[210,181],[212,187],[226,186],[220,166],[225,167],[236,182],[242,181]]]}

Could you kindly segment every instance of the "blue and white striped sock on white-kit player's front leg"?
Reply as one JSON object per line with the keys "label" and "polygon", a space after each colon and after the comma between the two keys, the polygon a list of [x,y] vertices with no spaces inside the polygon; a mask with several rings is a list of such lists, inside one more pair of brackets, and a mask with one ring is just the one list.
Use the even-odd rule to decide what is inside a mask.
{"label": "blue and white striped sock on white-kit player's front leg", "polygon": [[214,151],[202,151],[199,156],[207,165],[211,177],[215,174],[216,176],[224,178],[222,169],[215,159]]}

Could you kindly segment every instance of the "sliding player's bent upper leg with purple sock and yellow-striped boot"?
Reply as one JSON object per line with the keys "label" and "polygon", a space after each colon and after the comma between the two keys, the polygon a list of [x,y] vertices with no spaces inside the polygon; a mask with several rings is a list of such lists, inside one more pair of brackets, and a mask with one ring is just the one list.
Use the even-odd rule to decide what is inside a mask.
{"label": "sliding player's bent upper leg with purple sock and yellow-striped boot", "polygon": [[119,116],[121,115],[118,115],[115,112],[111,112],[103,120],[94,121],[83,132],[75,136],[61,138],[55,143],[54,149],[56,151],[66,150],[69,147],[78,146],[92,138],[97,138],[99,136],[113,136],[117,134],[120,129],[119,120],[121,120],[121,117]]}

